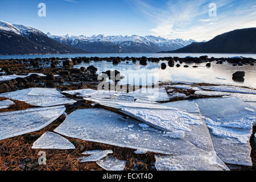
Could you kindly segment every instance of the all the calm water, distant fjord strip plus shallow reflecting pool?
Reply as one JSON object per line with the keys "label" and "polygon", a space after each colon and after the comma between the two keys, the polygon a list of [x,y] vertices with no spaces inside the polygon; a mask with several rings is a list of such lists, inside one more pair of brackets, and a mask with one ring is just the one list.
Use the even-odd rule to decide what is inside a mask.
{"label": "all the calm water, distant fjord strip plus shallow reflecting pool", "polygon": [[[256,55],[246,54],[204,54],[204,53],[93,53],[93,54],[64,54],[64,55],[23,55],[23,56],[0,56],[0,59],[23,59],[23,58],[36,58],[36,57],[168,57],[168,56],[194,56],[199,57],[202,55],[208,55],[208,57],[232,57],[232,56],[244,56],[244,57],[253,57],[256,59]],[[134,64],[132,61],[129,61],[127,64],[126,61],[122,61],[118,65],[113,65],[112,63],[106,61],[91,61],[90,63],[82,63],[76,65],[76,68],[80,67],[89,67],[89,65],[94,65],[98,68],[98,73],[108,71],[108,70],[118,70],[121,72],[121,75],[125,76],[125,79],[121,81],[121,84],[141,84],[147,85],[153,77],[154,80],[159,81],[189,81],[189,82],[204,82],[210,84],[225,84],[225,85],[237,85],[237,86],[247,86],[250,88],[256,89],[256,67],[250,65],[243,65],[243,67],[233,67],[232,64],[215,64],[212,63],[212,67],[205,67],[206,63],[197,64],[198,68],[192,68],[195,64],[187,64],[189,68],[184,68],[181,64],[180,68],[168,67],[165,70],[160,68],[161,63],[166,63],[167,61],[160,61],[160,63],[148,63],[146,66],[139,65],[138,61]],[[177,64],[177,63],[176,63]],[[245,71],[245,81],[236,82],[232,80],[233,73],[237,71]],[[138,75],[142,77],[141,80],[138,80]],[[145,76],[146,75],[146,76]],[[130,77],[130,78],[129,78]],[[146,79],[147,77],[148,79]],[[150,81],[149,78],[151,79]]]}

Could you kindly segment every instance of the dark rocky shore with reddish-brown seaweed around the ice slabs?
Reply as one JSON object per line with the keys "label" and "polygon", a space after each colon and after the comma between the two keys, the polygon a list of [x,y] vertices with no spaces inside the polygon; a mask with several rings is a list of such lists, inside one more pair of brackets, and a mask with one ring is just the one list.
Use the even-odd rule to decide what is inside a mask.
{"label": "dark rocky shore with reddish-brown seaweed around the ice slabs", "polygon": [[[22,90],[27,88],[56,88],[59,91],[65,90],[79,90],[79,89],[97,89],[98,83],[98,69],[91,65],[88,68],[81,67],[80,69],[73,68],[74,65],[80,63],[88,63],[89,61],[103,61],[106,60],[110,64],[118,64],[121,61],[138,62],[141,65],[146,65],[148,61],[159,62],[160,60],[167,60],[168,65],[162,64],[162,69],[166,69],[167,66],[179,67],[179,63],[207,63],[210,64],[213,61],[217,61],[216,64],[222,64],[225,61],[233,65],[254,65],[255,59],[242,57],[233,58],[210,58],[207,56],[201,56],[200,58],[195,57],[162,57],[162,58],[147,58],[147,57],[76,57],[73,59],[22,59],[22,60],[0,60],[1,73],[0,76],[13,76],[19,75],[24,77],[17,77],[11,80],[0,81],[0,93],[14,92],[16,90]],[[184,66],[185,67],[185,66]],[[196,67],[195,67],[196,68]],[[32,73],[31,75],[29,75]],[[108,76],[111,75],[111,71],[105,72]],[[114,75],[117,76],[120,72],[114,71]],[[115,84],[118,84],[117,82]],[[167,83],[162,83],[160,86],[164,86]],[[177,83],[175,83],[177,84]],[[175,85],[173,84],[173,85]],[[183,83],[180,83],[183,85]],[[125,85],[128,86],[128,85]],[[213,84],[199,84],[195,83],[191,86],[216,86]],[[203,96],[195,94],[196,90],[182,88],[172,88],[172,84],[166,86],[166,91],[171,96],[169,101],[181,101],[181,100],[193,100],[197,98],[214,98],[221,96]],[[177,95],[175,95],[175,93]],[[110,107],[100,106],[90,101],[82,100],[82,97],[72,96],[71,94],[65,94],[68,98],[75,98],[77,102],[73,105],[65,105],[67,114],[72,113],[77,109],[88,109],[88,108],[102,108],[105,110],[113,111],[123,117],[127,115],[121,113],[116,109]],[[1,98],[0,101],[6,100],[7,98]],[[15,105],[9,109],[1,109],[0,113],[6,111],[23,110],[32,108],[25,102],[15,101]],[[164,102],[162,102],[164,103]],[[76,150],[46,150],[47,151],[47,166],[39,166],[38,152],[40,150],[32,150],[31,146],[42,134],[46,131],[53,131],[59,126],[65,119],[65,115],[61,115],[60,118],[56,119],[51,125],[45,127],[40,131],[36,131],[30,134],[20,135],[18,137],[9,138],[0,141],[0,170],[102,170],[96,163],[79,163],[77,158],[81,157],[81,152],[85,150],[112,150],[114,156],[119,159],[126,160],[126,170],[142,170],[142,171],[155,171],[154,164],[155,158],[154,153],[147,152],[146,154],[135,154],[130,148],[121,148],[115,146],[109,146],[107,144],[86,142],[80,139],[68,138],[76,147]],[[253,127],[253,134],[255,134],[255,127]],[[255,154],[255,143],[253,138],[250,140],[251,143],[251,158],[253,159],[253,167],[235,166],[235,170],[255,170],[256,154]]]}

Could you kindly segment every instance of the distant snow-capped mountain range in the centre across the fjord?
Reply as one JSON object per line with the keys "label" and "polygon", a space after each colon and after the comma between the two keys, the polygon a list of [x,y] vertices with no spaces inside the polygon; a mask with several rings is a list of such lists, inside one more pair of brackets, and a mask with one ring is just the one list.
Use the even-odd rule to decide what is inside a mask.
{"label": "distant snow-capped mountain range in the centre across the fjord", "polygon": [[84,49],[89,52],[159,52],[176,50],[196,42],[195,40],[164,39],[156,36],[59,36],[47,34],[68,46]]}

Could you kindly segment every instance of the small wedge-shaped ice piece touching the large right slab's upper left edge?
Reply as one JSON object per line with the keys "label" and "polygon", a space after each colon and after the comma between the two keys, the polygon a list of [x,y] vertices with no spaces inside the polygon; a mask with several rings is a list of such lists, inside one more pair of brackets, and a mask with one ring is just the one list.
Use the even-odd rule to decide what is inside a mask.
{"label": "small wedge-shaped ice piece touching the large right slab's upper left edge", "polygon": [[199,113],[200,112],[199,107],[197,106],[195,101],[185,100],[185,101],[167,102],[167,103],[164,103],[161,105],[185,110],[188,113]]}

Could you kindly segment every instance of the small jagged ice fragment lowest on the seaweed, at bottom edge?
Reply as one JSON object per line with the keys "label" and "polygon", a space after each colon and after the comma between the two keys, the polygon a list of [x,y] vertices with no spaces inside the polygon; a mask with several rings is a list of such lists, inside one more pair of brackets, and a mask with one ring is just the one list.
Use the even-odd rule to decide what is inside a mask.
{"label": "small jagged ice fragment lowest on the seaweed, at bottom edge", "polygon": [[123,169],[125,169],[126,161],[119,160],[113,155],[110,155],[104,159],[98,160],[96,163],[106,171],[123,171]]}

